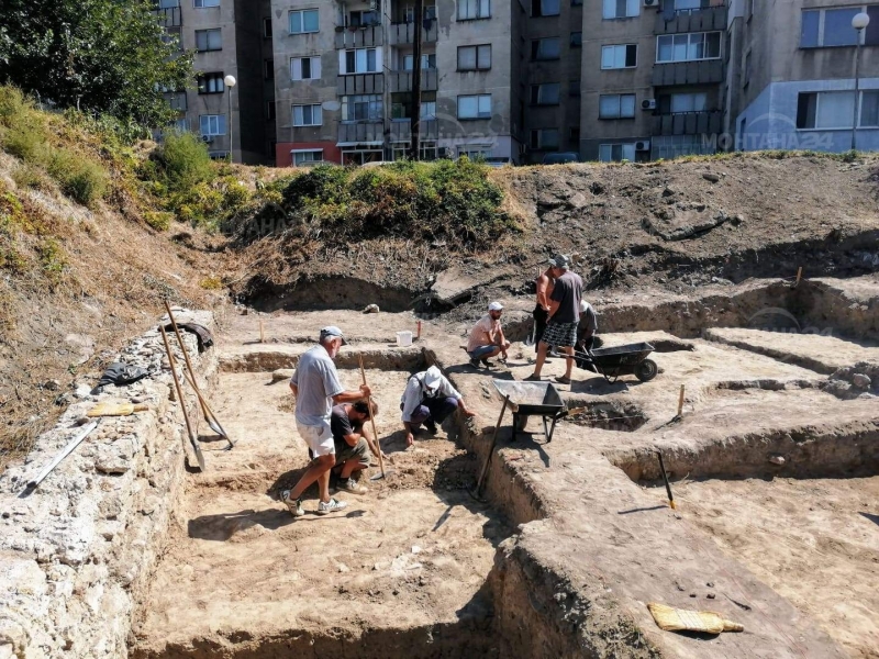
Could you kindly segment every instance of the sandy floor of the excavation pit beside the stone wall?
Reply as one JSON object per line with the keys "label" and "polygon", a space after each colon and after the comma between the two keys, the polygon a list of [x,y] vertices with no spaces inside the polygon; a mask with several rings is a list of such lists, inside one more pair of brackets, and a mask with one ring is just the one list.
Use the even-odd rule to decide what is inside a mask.
{"label": "sandy floor of the excavation pit beside the stone wall", "polygon": [[[221,376],[215,411],[238,443],[205,451],[211,469],[186,484],[133,656],[492,656],[488,579],[512,530],[467,493],[477,460],[455,443],[455,421],[405,450],[410,370],[367,369],[389,477],[364,478],[363,496],[338,493],[348,507],[326,516],[312,487],[293,520],[277,493],[304,470],[307,448],[288,384],[270,376]],[[340,376],[360,383],[359,370]]]}

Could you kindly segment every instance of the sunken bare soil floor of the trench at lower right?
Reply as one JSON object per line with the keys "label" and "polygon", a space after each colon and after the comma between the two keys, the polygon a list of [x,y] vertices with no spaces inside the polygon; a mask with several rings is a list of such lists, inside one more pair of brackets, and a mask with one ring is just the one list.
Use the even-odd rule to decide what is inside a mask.
{"label": "sunken bare soil floor of the trench at lower right", "polygon": [[879,657],[879,477],[680,483],[688,518],[816,621]]}

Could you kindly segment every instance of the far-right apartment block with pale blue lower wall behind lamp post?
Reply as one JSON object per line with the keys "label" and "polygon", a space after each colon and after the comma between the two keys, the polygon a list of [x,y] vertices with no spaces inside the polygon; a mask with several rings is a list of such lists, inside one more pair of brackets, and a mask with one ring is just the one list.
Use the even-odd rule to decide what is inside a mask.
{"label": "far-right apartment block with pale blue lower wall behind lamp post", "polygon": [[[879,149],[879,3],[741,0],[735,9],[741,74],[731,89],[728,130],[736,148],[844,152],[854,133],[858,149]],[[858,31],[852,20],[861,12],[870,21]]]}

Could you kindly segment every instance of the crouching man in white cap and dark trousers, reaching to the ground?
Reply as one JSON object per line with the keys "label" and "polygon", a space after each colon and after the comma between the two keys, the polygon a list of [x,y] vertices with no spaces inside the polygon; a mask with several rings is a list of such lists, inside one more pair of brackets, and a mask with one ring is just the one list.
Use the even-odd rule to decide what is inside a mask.
{"label": "crouching man in white cap and dark trousers, reaching to the ground", "polygon": [[465,416],[476,416],[437,367],[411,376],[400,399],[407,445],[412,446],[413,435],[421,424],[429,433],[436,433],[436,424],[443,423],[458,407]]}

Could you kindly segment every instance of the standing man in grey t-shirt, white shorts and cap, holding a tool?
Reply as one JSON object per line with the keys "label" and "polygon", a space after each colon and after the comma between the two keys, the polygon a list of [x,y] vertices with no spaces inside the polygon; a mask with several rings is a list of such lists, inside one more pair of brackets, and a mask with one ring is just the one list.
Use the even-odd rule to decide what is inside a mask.
{"label": "standing man in grey t-shirt, white shorts and cap, holding a tool", "polygon": [[333,404],[359,401],[369,396],[371,391],[366,384],[360,384],[357,391],[345,391],[338,381],[333,359],[344,345],[346,342],[342,330],[335,325],[324,327],[318,345],[299,358],[290,379],[290,389],[296,396],[296,428],[314,456],[296,487],[281,492],[281,501],[294,517],[305,514],[302,493],[314,481],[318,481],[321,496],[319,514],[340,511],[346,505],[344,501],[330,498],[330,470],[336,462],[331,414]]}

